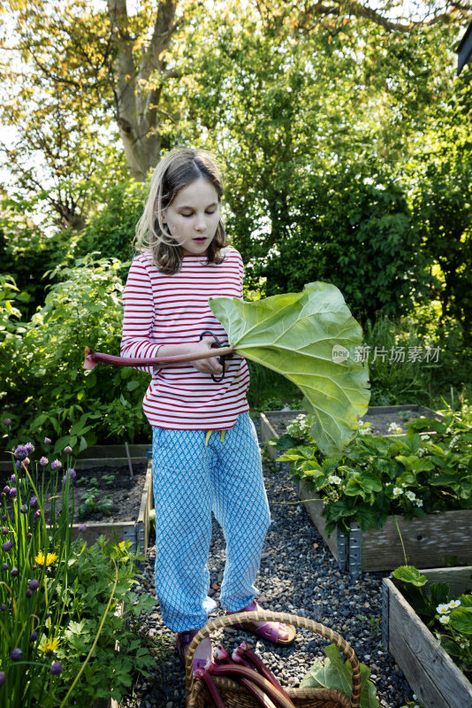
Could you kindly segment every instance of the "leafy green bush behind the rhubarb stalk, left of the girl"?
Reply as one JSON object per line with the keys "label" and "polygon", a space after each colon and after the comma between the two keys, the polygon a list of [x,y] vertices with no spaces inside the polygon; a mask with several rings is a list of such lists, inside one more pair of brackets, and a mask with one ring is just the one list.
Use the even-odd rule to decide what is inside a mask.
{"label": "leafy green bush behind the rhubarb stalk, left of the girl", "polygon": [[86,344],[119,353],[121,266],[92,255],[61,269],[64,280],[52,286],[24,333],[1,342],[8,352],[0,358],[4,409],[19,410],[11,415],[14,439],[25,425],[56,436],[55,450],[148,435],[141,407],[147,377],[126,367],[83,369]]}

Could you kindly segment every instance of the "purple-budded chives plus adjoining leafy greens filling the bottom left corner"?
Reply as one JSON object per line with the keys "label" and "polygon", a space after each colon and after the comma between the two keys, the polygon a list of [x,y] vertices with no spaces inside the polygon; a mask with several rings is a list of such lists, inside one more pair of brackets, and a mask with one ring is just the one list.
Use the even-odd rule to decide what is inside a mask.
{"label": "purple-budded chives plus adjoining leafy greens filling the bottom left corner", "polygon": [[[16,457],[33,453],[30,445]],[[72,542],[72,476],[63,479],[71,464],[70,456],[62,469],[43,458],[16,470],[12,464],[15,492],[7,487],[3,494],[0,703],[9,708],[59,708],[68,696],[77,708],[97,696],[119,700],[136,673],[148,675],[155,663],[139,626],[141,612],[152,611],[155,601],[133,592],[141,556],[130,543],[104,537],[92,546],[80,537]],[[118,613],[121,604],[127,621]]]}

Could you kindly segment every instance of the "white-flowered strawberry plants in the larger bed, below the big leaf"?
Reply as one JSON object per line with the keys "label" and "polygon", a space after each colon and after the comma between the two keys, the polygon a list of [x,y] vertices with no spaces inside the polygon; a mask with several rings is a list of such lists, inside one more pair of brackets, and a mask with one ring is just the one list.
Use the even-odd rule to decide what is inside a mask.
{"label": "white-flowered strawberry plants in the larger bed, below the big leaf", "polygon": [[278,458],[326,502],[328,535],[336,527],[348,533],[351,521],[367,531],[382,528],[390,514],[412,519],[472,509],[471,428],[452,413],[441,422],[419,418],[407,427],[407,435],[393,438],[358,435],[341,458],[324,457],[316,443]]}

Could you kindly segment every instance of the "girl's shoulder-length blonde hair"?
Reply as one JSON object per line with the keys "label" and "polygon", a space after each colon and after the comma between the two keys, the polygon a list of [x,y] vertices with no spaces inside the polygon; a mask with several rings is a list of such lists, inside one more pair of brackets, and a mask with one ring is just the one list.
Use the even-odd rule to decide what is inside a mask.
{"label": "girl's shoulder-length blonde hair", "polygon": [[[173,202],[179,189],[200,177],[213,185],[220,202],[223,181],[215,158],[206,150],[172,150],[159,162],[152,175],[148,201],[136,226],[135,242],[141,253],[150,251],[153,263],[162,273],[177,273],[184,255],[182,247],[163,222],[164,209]],[[209,263],[223,262],[221,250],[225,244],[225,226],[219,219],[217,232],[206,253]]]}

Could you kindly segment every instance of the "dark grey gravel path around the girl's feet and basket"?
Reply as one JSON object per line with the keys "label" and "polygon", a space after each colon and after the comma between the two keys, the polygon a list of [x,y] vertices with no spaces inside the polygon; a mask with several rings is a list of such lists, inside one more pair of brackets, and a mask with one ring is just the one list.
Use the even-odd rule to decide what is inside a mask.
{"label": "dark grey gravel path around the girl's feet and basket", "polygon": [[[308,513],[296,501],[293,481],[287,473],[264,464],[266,488],[270,501],[272,523],[266,537],[261,573],[256,581],[257,597],[266,609],[293,612],[331,627],[353,646],[357,657],[369,666],[371,680],[383,708],[400,708],[412,697],[407,681],[381,642],[382,573],[364,573],[354,580],[341,573],[331,551],[318,534]],[[225,565],[225,543],[216,522],[209,555],[210,586],[219,585]],[[148,553],[148,565],[138,592],[155,596],[153,549]],[[147,587],[146,587],[147,586]],[[211,589],[216,599],[218,591]],[[215,612],[215,616],[221,611]],[[151,679],[134,687],[133,698],[125,708],[185,708],[184,673],[174,655],[175,635],[156,611],[142,618],[143,631],[161,635],[169,651]],[[255,636],[236,632],[232,628],[220,631],[214,639],[232,650],[242,639],[255,643]],[[300,685],[308,668],[317,657],[324,657],[323,638],[316,639],[305,630],[298,630],[293,645],[280,649],[258,641],[257,653],[284,685]],[[231,652],[230,652],[231,653]]]}

